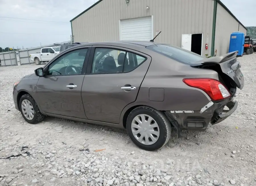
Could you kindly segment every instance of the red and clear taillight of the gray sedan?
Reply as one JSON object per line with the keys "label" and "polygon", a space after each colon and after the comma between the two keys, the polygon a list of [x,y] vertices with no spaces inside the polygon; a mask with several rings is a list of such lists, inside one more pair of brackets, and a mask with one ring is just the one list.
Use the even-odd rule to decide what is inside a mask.
{"label": "red and clear taillight of the gray sedan", "polygon": [[188,78],[183,79],[188,86],[199,88],[206,92],[214,101],[222,100],[231,96],[226,87],[216,79],[211,78]]}

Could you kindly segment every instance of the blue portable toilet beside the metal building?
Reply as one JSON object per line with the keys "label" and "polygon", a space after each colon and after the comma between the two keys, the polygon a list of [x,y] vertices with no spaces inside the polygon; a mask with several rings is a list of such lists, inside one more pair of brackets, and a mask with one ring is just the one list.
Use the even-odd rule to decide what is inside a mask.
{"label": "blue portable toilet beside the metal building", "polygon": [[243,55],[244,46],[244,33],[232,32],[230,35],[229,50],[228,52],[238,51],[238,56]]}

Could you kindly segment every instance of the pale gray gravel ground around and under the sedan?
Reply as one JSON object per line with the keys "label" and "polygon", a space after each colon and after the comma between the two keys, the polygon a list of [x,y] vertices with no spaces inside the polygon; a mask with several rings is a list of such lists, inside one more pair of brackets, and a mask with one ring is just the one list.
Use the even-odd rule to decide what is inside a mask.
{"label": "pale gray gravel ground around and under the sedan", "polygon": [[121,129],[52,117],[26,123],[13,82],[43,65],[0,67],[0,185],[256,185],[256,53],[238,59],[245,86],[233,115],[180,139],[173,129],[157,152]]}

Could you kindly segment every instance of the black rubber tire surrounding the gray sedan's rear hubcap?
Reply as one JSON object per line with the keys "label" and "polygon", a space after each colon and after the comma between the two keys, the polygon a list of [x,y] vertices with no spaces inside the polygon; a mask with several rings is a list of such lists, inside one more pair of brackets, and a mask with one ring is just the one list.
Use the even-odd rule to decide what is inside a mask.
{"label": "black rubber tire surrounding the gray sedan's rear hubcap", "polygon": [[[146,114],[151,116],[158,124],[160,135],[158,140],[154,144],[151,144],[151,145],[142,144],[133,136],[131,124],[133,119],[139,114]],[[142,148],[148,151],[158,150],[162,148],[169,141],[171,136],[170,121],[166,118],[166,116],[163,113],[148,106],[139,106],[133,109],[127,117],[126,128],[127,128],[128,135],[133,141],[133,143],[135,143],[139,148]]]}

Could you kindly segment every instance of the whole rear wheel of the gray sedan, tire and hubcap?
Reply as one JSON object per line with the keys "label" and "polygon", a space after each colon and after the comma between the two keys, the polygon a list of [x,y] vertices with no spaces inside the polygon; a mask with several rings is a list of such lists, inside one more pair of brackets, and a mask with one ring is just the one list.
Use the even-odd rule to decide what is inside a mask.
{"label": "whole rear wheel of the gray sedan, tire and hubcap", "polygon": [[127,118],[127,132],[131,140],[144,150],[158,150],[170,139],[171,124],[160,111],[139,106]]}

